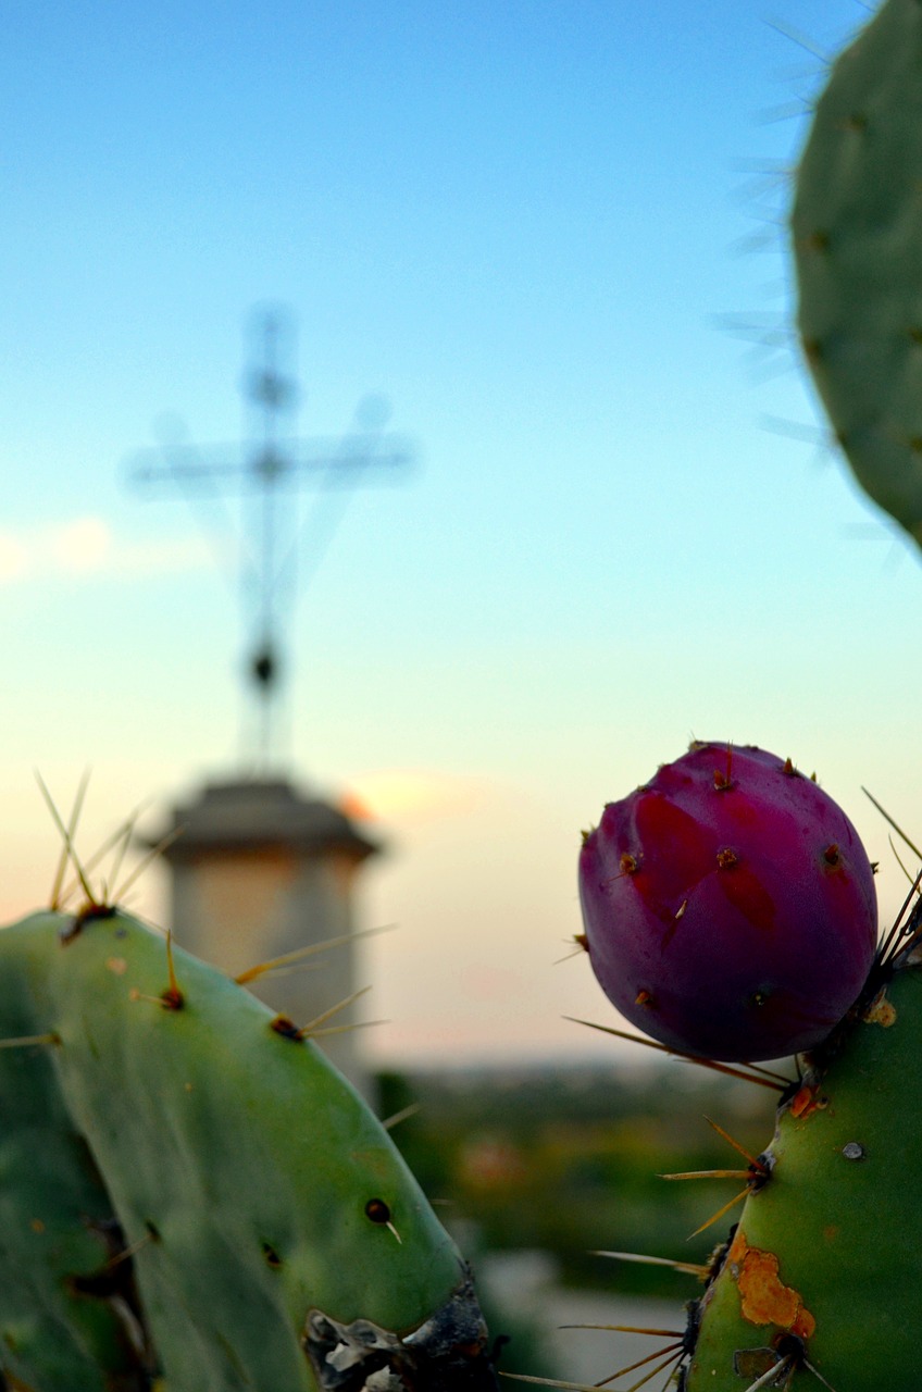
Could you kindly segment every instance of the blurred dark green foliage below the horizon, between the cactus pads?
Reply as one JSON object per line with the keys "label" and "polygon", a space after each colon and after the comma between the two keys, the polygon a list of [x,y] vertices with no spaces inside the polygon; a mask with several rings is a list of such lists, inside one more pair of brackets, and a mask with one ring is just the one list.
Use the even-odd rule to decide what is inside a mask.
{"label": "blurred dark green foliage below the horizon, between the cactus pads", "polygon": [[542,1249],[567,1285],[685,1300],[688,1276],[592,1253],[703,1261],[721,1236],[714,1228],[689,1240],[733,1196],[733,1180],[659,1176],[738,1168],[706,1116],[758,1151],[770,1094],[696,1073],[671,1063],[384,1075],[382,1096],[384,1114],[418,1102],[394,1140],[450,1228],[475,1224],[486,1251]]}

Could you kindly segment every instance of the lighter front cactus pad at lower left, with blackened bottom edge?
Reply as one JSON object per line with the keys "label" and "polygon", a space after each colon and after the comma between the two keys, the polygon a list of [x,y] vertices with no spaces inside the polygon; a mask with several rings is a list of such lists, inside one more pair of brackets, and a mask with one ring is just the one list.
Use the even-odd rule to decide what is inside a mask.
{"label": "lighter front cactus pad at lower left, with blackened bottom edge", "polygon": [[[479,1347],[457,1249],[368,1107],[242,987],[178,949],[174,965],[171,983],[163,935],[114,910],[0,933],[3,1033],[60,1040],[39,1062],[134,1249],[164,1392],[345,1386],[357,1322],[390,1340],[387,1366],[428,1357],[433,1329]],[[11,998],[28,1001],[15,1022]],[[38,1392],[78,1386],[10,1371]]]}

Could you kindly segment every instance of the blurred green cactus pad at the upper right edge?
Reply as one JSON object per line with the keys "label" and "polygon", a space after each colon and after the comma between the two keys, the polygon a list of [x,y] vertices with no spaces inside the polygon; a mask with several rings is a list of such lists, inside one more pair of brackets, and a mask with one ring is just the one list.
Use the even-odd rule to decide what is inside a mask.
{"label": "blurred green cactus pad at the upper right edge", "polygon": [[922,544],[922,6],[836,61],[797,175],[798,327],[858,482]]}

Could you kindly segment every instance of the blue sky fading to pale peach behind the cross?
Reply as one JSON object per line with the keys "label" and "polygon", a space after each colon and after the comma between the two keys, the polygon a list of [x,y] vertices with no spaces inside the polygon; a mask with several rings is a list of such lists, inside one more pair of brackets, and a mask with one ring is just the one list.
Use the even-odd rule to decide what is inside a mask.
{"label": "blue sky fading to pale peach behind the cross", "polygon": [[[309,514],[286,625],[280,760],[389,845],[358,903],[398,926],[362,963],[373,1058],[614,1057],[564,1019],[616,1022],[561,960],[579,830],[694,736],[816,770],[889,920],[905,880],[861,789],[922,837],[919,562],[827,444],[784,232],[823,56],[866,10],[4,18],[3,917],[53,876],[35,768],[61,806],[92,768],[86,851],[241,771],[234,533],[127,476],[167,418],[244,451],[281,305],[298,432],[373,393],[415,441]],[[164,894],[155,869],[132,902]]]}

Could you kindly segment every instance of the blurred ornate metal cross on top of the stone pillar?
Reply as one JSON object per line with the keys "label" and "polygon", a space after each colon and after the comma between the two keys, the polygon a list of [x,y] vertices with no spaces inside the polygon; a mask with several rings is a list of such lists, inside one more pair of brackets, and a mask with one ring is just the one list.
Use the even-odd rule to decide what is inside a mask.
{"label": "blurred ornate metal cross on top of the stone pillar", "polygon": [[[142,450],[128,461],[128,479],[148,489],[169,484],[188,501],[210,501],[227,512],[227,494],[242,497],[242,546],[240,579],[245,625],[249,628],[247,678],[258,710],[256,764],[272,761],[273,715],[277,710],[283,642],[283,610],[294,604],[298,555],[305,533],[319,515],[301,518],[288,496],[313,484],[326,496],[338,494],[338,511],[330,519],[326,537],[338,522],[348,493],[365,470],[398,472],[414,459],[411,443],[384,434],[389,409],[380,398],[366,398],[355,412],[355,426],[340,438],[297,438],[290,430],[298,401],[294,377],[280,366],[283,340],[290,326],[279,310],[260,316],[262,362],[248,372],[245,390],[255,412],[253,444],[196,448],[185,444],[175,429],[162,432],[160,448]],[[233,526],[231,519],[231,526]],[[319,554],[313,557],[315,568]],[[244,741],[245,745],[245,741]]]}

